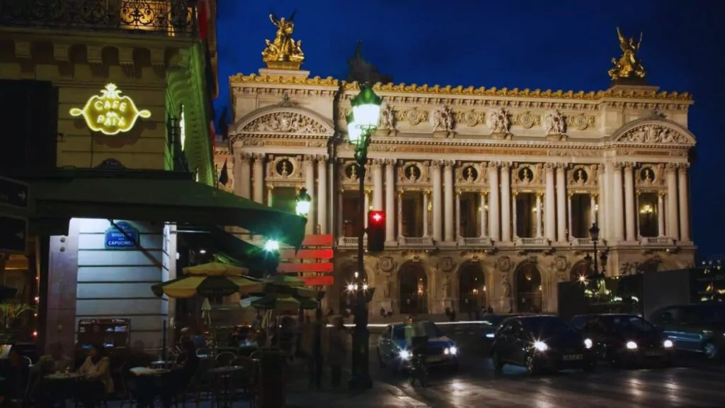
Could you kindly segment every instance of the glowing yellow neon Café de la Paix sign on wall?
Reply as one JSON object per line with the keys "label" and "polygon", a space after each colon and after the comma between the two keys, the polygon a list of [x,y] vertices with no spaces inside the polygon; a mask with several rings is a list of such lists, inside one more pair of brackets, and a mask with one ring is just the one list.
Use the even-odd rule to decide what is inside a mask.
{"label": "glowing yellow neon Caf\u00e9 de la Paix sign on wall", "polygon": [[115,83],[107,84],[100,95],[88,98],[83,109],[72,108],[70,115],[83,116],[91,131],[107,135],[130,131],[138,118],[151,118],[149,110],[138,110],[133,99],[121,96]]}

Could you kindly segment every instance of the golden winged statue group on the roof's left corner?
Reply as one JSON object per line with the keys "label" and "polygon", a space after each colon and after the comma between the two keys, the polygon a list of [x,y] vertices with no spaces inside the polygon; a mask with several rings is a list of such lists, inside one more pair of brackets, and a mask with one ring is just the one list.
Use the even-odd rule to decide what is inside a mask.
{"label": "golden winged statue group on the roof's left corner", "polygon": [[305,53],[302,52],[302,41],[295,42],[292,39],[294,32],[294,15],[292,12],[289,18],[277,18],[270,13],[270,21],[277,28],[274,40],[265,39],[267,46],[262,51],[262,61],[267,68],[277,70],[299,70],[302,62],[305,61]]}

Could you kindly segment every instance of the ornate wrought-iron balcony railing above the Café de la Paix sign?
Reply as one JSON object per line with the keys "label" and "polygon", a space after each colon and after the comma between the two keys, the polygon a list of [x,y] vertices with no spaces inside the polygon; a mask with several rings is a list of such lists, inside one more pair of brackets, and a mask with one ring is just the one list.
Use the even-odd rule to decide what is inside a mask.
{"label": "ornate wrought-iron balcony railing above the Caf\u00e9 de la Paix sign", "polygon": [[0,25],[194,36],[192,0],[0,0]]}

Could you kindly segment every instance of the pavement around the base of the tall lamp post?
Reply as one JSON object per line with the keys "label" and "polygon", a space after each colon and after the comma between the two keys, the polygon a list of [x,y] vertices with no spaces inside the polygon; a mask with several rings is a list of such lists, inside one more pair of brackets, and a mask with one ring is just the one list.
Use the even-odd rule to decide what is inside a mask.
{"label": "pavement around the base of the tall lamp post", "polygon": [[318,407],[380,407],[380,408],[423,408],[428,405],[406,396],[393,385],[373,381],[373,388],[367,391],[350,391],[347,386],[349,370],[343,369],[342,386],[330,388],[330,378],[326,369],[323,375],[323,388],[317,390],[307,384],[307,372],[302,362],[291,364],[293,378],[286,384],[286,408]]}

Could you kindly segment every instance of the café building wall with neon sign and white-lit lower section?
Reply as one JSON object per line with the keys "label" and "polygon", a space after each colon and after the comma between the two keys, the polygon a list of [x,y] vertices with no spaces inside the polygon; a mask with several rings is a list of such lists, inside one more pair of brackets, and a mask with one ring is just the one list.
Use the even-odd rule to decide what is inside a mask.
{"label": "caf\u00e9 building wall with neon sign and white-lit lower section", "polygon": [[[215,184],[215,4],[5,1],[0,115],[12,136],[0,150],[0,174],[188,170]],[[33,184],[30,191],[38,200],[49,194]],[[70,352],[80,319],[123,318],[128,346],[159,347],[173,302],[150,285],[175,276],[175,227],[82,215],[59,224],[32,220],[32,253],[5,264],[6,272],[37,271],[45,342]],[[136,242],[124,242],[128,236]]]}

